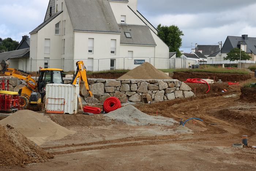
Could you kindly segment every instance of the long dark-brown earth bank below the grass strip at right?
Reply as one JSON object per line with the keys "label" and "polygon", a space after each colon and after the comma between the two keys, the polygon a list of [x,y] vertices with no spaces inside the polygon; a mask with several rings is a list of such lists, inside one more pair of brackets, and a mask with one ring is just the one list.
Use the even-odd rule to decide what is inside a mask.
{"label": "long dark-brown earth bank below the grass strip at right", "polygon": [[[229,81],[241,81],[251,79],[250,74],[241,74],[241,73],[218,73],[218,72],[196,72],[196,71],[184,71],[184,72],[174,72],[173,79],[178,79],[180,81],[186,81],[190,78],[199,78],[199,79],[214,79],[218,81],[221,79],[223,82]],[[226,79],[227,78],[227,79]]]}

